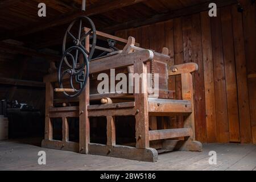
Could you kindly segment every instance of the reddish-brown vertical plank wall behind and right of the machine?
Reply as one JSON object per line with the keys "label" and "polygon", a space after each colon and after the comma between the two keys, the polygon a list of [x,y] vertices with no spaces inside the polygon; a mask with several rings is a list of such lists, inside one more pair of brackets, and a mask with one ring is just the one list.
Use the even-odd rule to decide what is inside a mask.
{"label": "reddish-brown vertical plank wall behind and right of the machine", "polygon": [[[256,143],[255,5],[244,1],[243,9],[238,13],[233,5],[218,9],[214,18],[201,12],[116,32],[122,38],[134,36],[143,48],[169,48],[175,64],[199,65],[193,80],[201,142]],[[180,77],[169,83],[181,98]],[[177,117],[171,126],[182,127],[182,120]]]}

